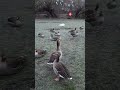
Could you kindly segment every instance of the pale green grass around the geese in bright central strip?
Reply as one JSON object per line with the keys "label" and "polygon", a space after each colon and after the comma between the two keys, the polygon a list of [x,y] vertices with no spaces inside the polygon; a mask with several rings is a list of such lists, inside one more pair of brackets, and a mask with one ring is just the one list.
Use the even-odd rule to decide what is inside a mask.
{"label": "pale green grass around the geese in bright central strip", "polygon": [[[69,29],[61,28],[61,49],[63,57],[61,62],[69,69],[73,78],[70,80],[54,81],[55,74],[52,65],[47,65],[52,52],[56,50],[56,42],[49,39],[49,28],[60,28],[58,25],[65,23],[65,27],[79,30],[85,26],[84,20],[36,20],[35,26],[35,48],[47,49],[43,58],[35,59],[36,90],[84,90],[85,89],[85,29],[79,30],[79,36],[72,38]],[[39,38],[41,32],[45,38]]]}

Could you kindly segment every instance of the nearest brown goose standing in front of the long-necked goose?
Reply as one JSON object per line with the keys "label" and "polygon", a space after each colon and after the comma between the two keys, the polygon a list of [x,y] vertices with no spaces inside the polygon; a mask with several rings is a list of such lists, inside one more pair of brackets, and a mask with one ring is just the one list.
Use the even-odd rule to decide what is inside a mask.
{"label": "nearest brown goose standing in front of the long-necked goose", "polygon": [[57,56],[57,58],[53,62],[53,70],[56,74],[56,78],[54,79],[55,81],[59,81],[60,78],[72,80],[69,70],[62,62],[59,62],[59,56]]}

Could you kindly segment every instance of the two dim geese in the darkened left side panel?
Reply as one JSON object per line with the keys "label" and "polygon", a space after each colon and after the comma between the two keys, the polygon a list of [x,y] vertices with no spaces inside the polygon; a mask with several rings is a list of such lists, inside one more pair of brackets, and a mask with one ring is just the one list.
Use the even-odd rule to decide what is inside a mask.
{"label": "two dim geese in the darkened left side panel", "polygon": [[[23,25],[20,17],[13,16],[7,19],[7,24],[12,28],[19,28]],[[12,75],[19,72],[26,62],[26,56],[7,57],[5,51],[0,53],[0,76]]]}

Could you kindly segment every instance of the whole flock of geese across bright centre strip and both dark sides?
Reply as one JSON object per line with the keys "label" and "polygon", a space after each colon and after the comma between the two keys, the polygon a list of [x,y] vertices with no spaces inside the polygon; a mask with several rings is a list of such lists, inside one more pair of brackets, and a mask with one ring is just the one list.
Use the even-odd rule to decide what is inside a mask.
{"label": "whole flock of geese across bright centre strip and both dark sides", "polygon": [[[117,7],[116,0],[112,0],[108,2],[106,6],[108,9],[116,8]],[[96,7],[94,10],[91,10],[91,9],[85,10],[85,16],[86,16],[85,20],[92,26],[101,25],[104,22],[103,11],[101,10],[98,12],[98,10],[99,10],[99,4],[96,4]],[[21,22],[20,19],[21,18],[18,16],[9,17],[8,24],[11,27],[15,27],[15,28],[21,27],[23,26],[23,23]],[[63,24],[61,26],[63,26]],[[83,29],[83,27],[80,27],[80,29]],[[48,64],[53,63],[53,70],[57,75],[57,78],[55,80],[59,81],[59,77],[72,79],[68,72],[68,69],[64,66],[64,64],[59,62],[59,60],[61,60],[62,58],[62,51],[60,49],[60,40],[61,40],[60,32],[55,32],[54,29],[51,29],[50,32],[53,32],[51,34],[51,40],[54,40],[57,42],[57,50],[56,52],[51,54],[50,61],[48,62]],[[76,28],[74,30],[69,31],[69,33],[73,37],[78,36],[78,31],[76,30]],[[45,37],[42,33],[39,33],[38,36],[41,38]],[[44,56],[46,52],[47,52],[46,50],[37,49],[35,50],[35,57]],[[9,59],[12,59],[12,60],[9,61]],[[1,53],[0,75],[10,75],[10,74],[16,73],[17,71],[19,71],[19,69],[21,69],[21,66],[25,61],[26,59],[24,56],[7,58],[4,53]]]}

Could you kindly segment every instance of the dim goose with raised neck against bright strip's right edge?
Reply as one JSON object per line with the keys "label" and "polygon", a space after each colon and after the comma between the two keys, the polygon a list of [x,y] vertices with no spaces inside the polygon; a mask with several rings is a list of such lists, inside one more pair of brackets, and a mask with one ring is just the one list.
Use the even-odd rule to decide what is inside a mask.
{"label": "dim goose with raised neck against bright strip's right edge", "polygon": [[85,10],[85,21],[91,23],[96,20],[96,15],[99,10],[99,3],[96,4],[95,9],[86,9]]}

